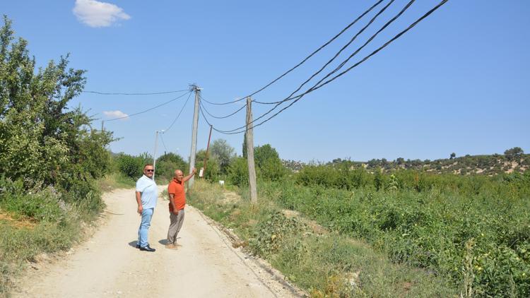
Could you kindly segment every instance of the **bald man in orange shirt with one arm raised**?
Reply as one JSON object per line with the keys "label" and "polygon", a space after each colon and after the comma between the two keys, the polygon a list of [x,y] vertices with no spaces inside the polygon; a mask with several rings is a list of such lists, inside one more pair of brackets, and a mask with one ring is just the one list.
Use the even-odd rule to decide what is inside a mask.
{"label": "bald man in orange shirt with one arm raised", "polygon": [[177,234],[179,234],[182,222],[184,222],[184,205],[186,205],[186,191],[184,191],[184,182],[188,181],[195,174],[196,169],[193,168],[192,174],[184,177],[181,170],[175,171],[170,184],[167,186],[167,193],[170,196],[170,228],[167,231],[167,249],[177,249]]}

